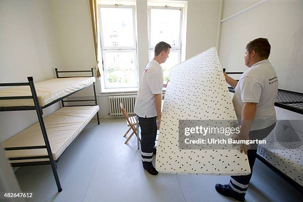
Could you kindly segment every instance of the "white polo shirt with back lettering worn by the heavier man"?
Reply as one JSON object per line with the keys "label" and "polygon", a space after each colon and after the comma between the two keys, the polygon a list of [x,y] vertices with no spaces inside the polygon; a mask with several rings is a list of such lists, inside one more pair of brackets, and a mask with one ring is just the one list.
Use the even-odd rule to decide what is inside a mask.
{"label": "white polo shirt with back lettering worn by the heavier man", "polygon": [[277,74],[268,59],[261,60],[245,71],[235,88],[233,104],[241,123],[245,102],[254,102],[256,114],[251,131],[266,128],[276,122],[274,103],[278,92]]}

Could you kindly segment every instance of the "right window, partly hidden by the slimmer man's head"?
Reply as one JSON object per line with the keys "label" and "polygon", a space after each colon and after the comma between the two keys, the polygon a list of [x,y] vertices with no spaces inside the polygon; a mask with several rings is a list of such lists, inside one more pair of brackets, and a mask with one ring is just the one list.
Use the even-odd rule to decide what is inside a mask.
{"label": "right window, partly hidden by the slimmer man's head", "polygon": [[171,67],[181,62],[181,30],[183,8],[149,6],[149,57],[154,56],[154,47],[164,41],[171,46],[169,57],[161,64],[164,81],[169,79]]}

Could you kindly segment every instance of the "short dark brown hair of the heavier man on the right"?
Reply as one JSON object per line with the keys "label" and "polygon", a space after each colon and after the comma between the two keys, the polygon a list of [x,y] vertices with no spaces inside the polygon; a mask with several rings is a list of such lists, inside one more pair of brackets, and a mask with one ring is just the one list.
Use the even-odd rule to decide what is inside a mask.
{"label": "short dark brown hair of the heavier man on the right", "polygon": [[251,53],[253,50],[262,58],[268,59],[270,54],[270,44],[265,38],[257,38],[246,45],[246,49]]}

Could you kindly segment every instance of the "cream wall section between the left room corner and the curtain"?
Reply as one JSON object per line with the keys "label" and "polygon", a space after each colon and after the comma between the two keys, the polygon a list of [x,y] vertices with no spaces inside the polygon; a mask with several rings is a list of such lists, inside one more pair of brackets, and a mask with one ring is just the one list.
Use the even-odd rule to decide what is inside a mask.
{"label": "cream wall section between the left room corner and the curtain", "polygon": [[59,53],[64,70],[96,65],[88,0],[51,0]]}

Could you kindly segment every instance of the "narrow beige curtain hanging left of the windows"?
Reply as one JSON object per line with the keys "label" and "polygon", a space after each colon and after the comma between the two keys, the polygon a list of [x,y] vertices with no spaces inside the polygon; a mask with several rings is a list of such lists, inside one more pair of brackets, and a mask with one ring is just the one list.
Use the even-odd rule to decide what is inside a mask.
{"label": "narrow beige curtain hanging left of the windows", "polygon": [[96,54],[96,70],[97,77],[100,77],[100,70],[98,67],[98,23],[97,23],[97,0],[89,0],[90,2],[90,11],[91,11],[91,20],[92,20],[92,28],[93,28],[93,37],[94,37],[94,46],[95,46],[95,54]]}

